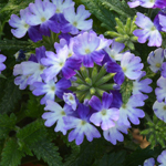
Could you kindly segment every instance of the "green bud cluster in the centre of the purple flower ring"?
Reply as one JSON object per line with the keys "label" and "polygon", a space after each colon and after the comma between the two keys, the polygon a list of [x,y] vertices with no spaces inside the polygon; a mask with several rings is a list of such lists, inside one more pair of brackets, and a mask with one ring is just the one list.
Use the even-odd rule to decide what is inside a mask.
{"label": "green bud cluster in the centre of the purple flower ring", "polygon": [[97,66],[93,69],[82,66],[71,90],[74,90],[80,102],[90,100],[93,95],[102,97],[105,91],[113,90],[114,75],[115,73],[106,73],[104,65],[100,70]]}

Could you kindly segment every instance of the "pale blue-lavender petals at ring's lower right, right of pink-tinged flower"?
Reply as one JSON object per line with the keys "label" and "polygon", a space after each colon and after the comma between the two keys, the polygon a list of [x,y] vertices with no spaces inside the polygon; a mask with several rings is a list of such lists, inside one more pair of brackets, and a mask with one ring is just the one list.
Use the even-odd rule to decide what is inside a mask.
{"label": "pale blue-lavender petals at ring's lower right, right of pink-tinged flower", "polygon": [[[126,125],[129,126],[129,121],[138,125],[139,124],[139,117],[144,117],[145,113],[137,108],[139,106],[143,106],[144,103],[144,96],[142,94],[135,94],[132,95],[126,104],[123,104],[120,108],[120,118],[117,121],[118,125]],[[129,121],[128,121],[129,120]]]}

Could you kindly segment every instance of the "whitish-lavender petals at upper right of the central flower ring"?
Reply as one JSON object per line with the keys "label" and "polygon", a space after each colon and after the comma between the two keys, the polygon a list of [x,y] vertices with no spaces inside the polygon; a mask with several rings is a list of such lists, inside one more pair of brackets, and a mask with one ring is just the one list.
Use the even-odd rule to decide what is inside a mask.
{"label": "whitish-lavender petals at upper right of the central flower ring", "polygon": [[123,70],[123,73],[125,76],[127,76],[131,80],[136,80],[142,74],[143,63],[141,63],[141,58],[135,56],[131,52],[124,53],[122,61],[121,61],[121,68]]}

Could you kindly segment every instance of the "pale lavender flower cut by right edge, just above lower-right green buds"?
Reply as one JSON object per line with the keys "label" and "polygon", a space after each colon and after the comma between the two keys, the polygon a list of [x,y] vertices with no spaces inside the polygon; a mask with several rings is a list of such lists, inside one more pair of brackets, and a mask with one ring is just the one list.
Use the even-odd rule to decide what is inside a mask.
{"label": "pale lavender flower cut by right edge, just above lower-right green buds", "polygon": [[153,110],[158,118],[166,122],[166,104],[164,102],[159,103],[156,101],[153,105]]}

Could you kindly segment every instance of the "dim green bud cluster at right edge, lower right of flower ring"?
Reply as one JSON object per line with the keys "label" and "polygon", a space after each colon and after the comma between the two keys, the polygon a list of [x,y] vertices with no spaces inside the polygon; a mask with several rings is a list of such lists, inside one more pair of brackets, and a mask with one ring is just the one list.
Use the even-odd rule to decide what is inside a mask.
{"label": "dim green bud cluster at right edge, lower right of flower ring", "polygon": [[147,141],[151,143],[152,148],[157,144],[160,144],[163,148],[166,147],[166,124],[154,115],[153,122],[147,122],[148,128],[141,132],[141,134],[147,136]]}

